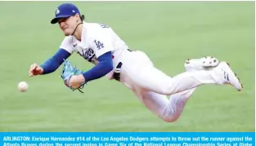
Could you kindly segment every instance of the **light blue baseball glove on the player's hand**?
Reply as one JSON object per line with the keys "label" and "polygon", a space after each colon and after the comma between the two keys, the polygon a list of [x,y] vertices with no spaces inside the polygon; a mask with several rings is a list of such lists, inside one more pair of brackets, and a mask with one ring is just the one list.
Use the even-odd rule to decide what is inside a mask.
{"label": "light blue baseball glove on the player's hand", "polygon": [[[83,71],[82,70],[79,70],[79,69],[76,69],[75,66],[73,66],[70,61],[68,60],[65,60],[64,61],[64,66],[63,66],[63,69],[62,69],[62,72],[61,72],[61,78],[63,79],[64,83],[65,83],[65,86],[68,86],[72,91],[75,91],[77,89],[74,89],[72,86],[69,86],[69,82],[70,82],[70,78],[73,76],[73,75],[79,75],[79,74],[82,74]],[[86,82],[83,82],[78,90],[80,92],[83,93],[83,91],[81,91],[81,89],[83,89],[83,86]]]}

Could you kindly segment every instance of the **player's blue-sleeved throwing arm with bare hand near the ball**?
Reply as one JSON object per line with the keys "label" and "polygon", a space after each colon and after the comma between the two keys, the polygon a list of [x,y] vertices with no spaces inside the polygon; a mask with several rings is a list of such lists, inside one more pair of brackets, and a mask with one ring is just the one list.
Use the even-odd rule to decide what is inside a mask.
{"label": "player's blue-sleeved throwing arm with bare hand near the ball", "polygon": [[29,77],[41,75],[41,74],[48,74],[56,71],[61,64],[70,56],[70,52],[65,51],[64,49],[60,49],[49,58],[45,63],[38,65],[38,64],[31,64],[29,68]]}

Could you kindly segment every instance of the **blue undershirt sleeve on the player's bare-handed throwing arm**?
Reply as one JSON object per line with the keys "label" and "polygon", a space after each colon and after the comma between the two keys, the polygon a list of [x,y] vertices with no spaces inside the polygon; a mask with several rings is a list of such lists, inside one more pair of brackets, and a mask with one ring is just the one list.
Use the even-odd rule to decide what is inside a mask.
{"label": "blue undershirt sleeve on the player's bare-handed throwing arm", "polygon": [[61,66],[61,64],[69,58],[70,52],[65,51],[64,49],[60,49],[56,52],[55,55],[53,55],[51,58],[49,58],[45,63],[41,64],[40,66],[43,68],[43,74],[48,74],[56,71],[56,69]]}

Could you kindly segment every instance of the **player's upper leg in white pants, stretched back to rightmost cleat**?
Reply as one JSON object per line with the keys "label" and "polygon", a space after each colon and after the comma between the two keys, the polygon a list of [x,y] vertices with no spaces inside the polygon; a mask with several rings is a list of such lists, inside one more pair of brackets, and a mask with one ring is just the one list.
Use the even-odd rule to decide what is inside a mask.
{"label": "player's upper leg in white pants, stretched back to rightmost cleat", "polygon": [[141,86],[147,91],[153,91],[161,95],[173,95],[203,84],[231,84],[238,91],[242,88],[239,79],[225,62],[218,64],[218,67],[209,71],[195,70],[180,73],[172,78],[159,71],[159,69],[155,69],[152,64],[141,63],[140,59],[145,58],[145,56],[134,56],[136,56],[136,59],[131,59],[136,61],[136,64],[125,65],[128,63],[125,61],[122,73],[128,78],[130,85]]}

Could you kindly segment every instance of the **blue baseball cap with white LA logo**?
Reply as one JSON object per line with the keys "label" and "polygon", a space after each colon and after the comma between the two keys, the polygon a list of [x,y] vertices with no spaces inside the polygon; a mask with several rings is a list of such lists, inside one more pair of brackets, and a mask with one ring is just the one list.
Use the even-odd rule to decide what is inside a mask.
{"label": "blue baseball cap with white LA logo", "polygon": [[72,3],[63,3],[55,11],[55,18],[52,19],[51,24],[56,24],[60,18],[68,18],[71,15],[80,15],[79,8]]}

